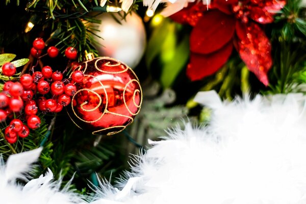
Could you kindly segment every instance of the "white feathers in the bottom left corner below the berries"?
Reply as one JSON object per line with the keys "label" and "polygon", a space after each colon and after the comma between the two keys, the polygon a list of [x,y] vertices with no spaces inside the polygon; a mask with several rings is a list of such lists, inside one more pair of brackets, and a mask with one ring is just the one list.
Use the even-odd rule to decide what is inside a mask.
{"label": "white feathers in the bottom left corner below the berries", "polygon": [[1,204],[72,204],[85,203],[83,196],[70,192],[70,183],[60,190],[61,181],[52,182],[53,173],[47,173],[38,179],[29,181],[25,186],[16,183],[16,179],[27,179],[24,174],[31,171],[42,148],[11,155],[6,166],[0,163],[0,203]]}

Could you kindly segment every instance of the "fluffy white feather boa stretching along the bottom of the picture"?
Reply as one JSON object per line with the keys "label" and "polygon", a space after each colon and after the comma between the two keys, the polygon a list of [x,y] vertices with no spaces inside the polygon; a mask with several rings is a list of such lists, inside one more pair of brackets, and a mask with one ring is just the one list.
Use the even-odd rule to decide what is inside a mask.
{"label": "fluffy white feather boa stretching along the bottom of the picture", "polygon": [[[186,124],[185,130],[175,129],[165,140],[151,142],[153,146],[136,157],[118,187],[101,184],[87,200],[94,204],[306,203],[305,96],[258,95],[253,100],[221,102],[214,92],[208,92],[199,93],[196,100],[213,109],[208,126]],[[28,188],[28,193],[20,194],[25,187],[13,186],[5,176],[3,167],[0,203],[36,203],[25,198],[23,202],[3,199],[7,201],[9,195],[35,197],[38,191],[42,196],[63,196],[63,201],[42,199],[39,203],[82,202],[49,183],[50,189],[36,185],[37,192]]]}

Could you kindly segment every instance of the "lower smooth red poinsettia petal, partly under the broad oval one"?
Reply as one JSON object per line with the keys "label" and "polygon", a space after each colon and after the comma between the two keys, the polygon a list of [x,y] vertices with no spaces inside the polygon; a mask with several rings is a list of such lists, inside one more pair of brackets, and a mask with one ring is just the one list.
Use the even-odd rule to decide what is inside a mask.
{"label": "lower smooth red poinsettia petal, partly under the broad oval one", "polygon": [[196,81],[215,73],[230,57],[232,50],[233,44],[229,42],[217,52],[209,55],[191,53],[187,76],[191,81]]}

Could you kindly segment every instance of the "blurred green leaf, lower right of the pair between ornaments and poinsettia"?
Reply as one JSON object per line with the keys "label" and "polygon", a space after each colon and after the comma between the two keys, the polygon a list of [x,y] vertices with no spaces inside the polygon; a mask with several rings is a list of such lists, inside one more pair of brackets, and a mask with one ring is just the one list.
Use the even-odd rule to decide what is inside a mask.
{"label": "blurred green leaf, lower right of the pair between ornaments and poinsettia", "polygon": [[185,35],[182,42],[175,47],[175,53],[171,60],[165,63],[162,74],[161,83],[164,88],[168,88],[172,85],[177,74],[185,67],[189,58],[189,36]]}

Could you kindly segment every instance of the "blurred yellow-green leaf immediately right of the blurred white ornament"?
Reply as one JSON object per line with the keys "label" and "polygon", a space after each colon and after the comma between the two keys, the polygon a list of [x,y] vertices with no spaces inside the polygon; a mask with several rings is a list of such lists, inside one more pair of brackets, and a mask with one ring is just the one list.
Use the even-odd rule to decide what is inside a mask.
{"label": "blurred yellow-green leaf immediately right of the blurred white ornament", "polygon": [[161,22],[161,24],[152,32],[145,54],[146,66],[148,68],[150,68],[153,60],[161,52],[161,45],[164,43],[166,36],[168,35],[170,24],[171,23],[168,19],[164,19],[163,22]]}

